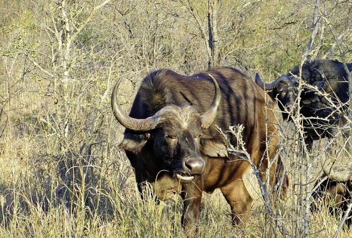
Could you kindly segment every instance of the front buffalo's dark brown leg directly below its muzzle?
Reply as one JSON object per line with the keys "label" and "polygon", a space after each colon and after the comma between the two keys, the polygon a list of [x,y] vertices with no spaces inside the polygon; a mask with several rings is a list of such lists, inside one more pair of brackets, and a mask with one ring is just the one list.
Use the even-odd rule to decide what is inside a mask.
{"label": "front buffalo's dark brown leg directly below its muzzle", "polygon": [[183,230],[187,237],[199,237],[198,220],[202,191],[194,184],[184,184],[181,196],[183,198],[181,219]]}

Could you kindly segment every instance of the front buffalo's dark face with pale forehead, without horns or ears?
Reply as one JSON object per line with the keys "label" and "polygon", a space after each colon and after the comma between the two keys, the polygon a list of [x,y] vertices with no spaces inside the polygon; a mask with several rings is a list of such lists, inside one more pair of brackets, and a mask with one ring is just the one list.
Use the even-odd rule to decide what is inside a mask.
{"label": "front buffalo's dark face with pale forehead, without horns or ears", "polygon": [[151,134],[155,156],[162,158],[163,169],[172,173],[180,182],[190,182],[194,175],[203,174],[200,138],[201,118],[191,106],[168,106]]}

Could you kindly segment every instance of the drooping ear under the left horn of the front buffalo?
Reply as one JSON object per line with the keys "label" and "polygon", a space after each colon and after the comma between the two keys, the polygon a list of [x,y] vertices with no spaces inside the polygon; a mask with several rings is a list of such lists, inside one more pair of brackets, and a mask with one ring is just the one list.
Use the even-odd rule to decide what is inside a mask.
{"label": "drooping ear under the left horn of the front buffalo", "polygon": [[149,133],[142,135],[126,134],[119,147],[125,151],[137,154],[142,150],[144,144],[147,143],[149,137]]}

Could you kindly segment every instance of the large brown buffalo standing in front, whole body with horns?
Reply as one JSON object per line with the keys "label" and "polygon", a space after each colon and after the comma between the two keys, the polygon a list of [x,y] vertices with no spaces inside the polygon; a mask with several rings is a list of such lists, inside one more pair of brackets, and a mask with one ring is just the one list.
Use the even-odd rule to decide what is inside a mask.
{"label": "large brown buffalo standing in front, whole body with horns", "polygon": [[[271,188],[279,176],[282,187],[287,186],[280,158],[269,168],[268,158],[274,157],[278,143],[273,102],[245,74],[229,67],[192,76],[168,69],[150,72],[142,80],[130,115],[117,100],[120,81],[113,89],[111,106],[126,128],[120,147],[134,168],[138,190],[142,193],[149,182],[157,199],[180,193],[181,223],[188,236],[199,236],[202,191],[220,188],[231,207],[233,224],[243,222],[251,208],[253,199],[242,180],[250,164],[226,152],[217,126],[227,131],[231,125],[244,125],[245,147],[260,166],[263,181],[269,171]],[[233,135],[228,140],[236,145]]]}

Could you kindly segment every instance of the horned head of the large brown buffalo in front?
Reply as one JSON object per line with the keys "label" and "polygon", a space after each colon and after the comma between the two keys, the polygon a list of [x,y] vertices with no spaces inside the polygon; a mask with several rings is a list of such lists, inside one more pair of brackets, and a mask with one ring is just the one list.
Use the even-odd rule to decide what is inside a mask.
{"label": "horned head of the large brown buffalo in front", "polygon": [[[205,160],[200,153],[200,139],[206,136],[202,130],[210,127],[220,103],[219,85],[212,76],[211,79],[215,86],[215,96],[203,114],[189,104],[171,104],[145,119],[132,118],[121,110],[117,101],[121,80],[117,82],[111,95],[113,113],[117,121],[133,133],[125,133],[120,147],[133,154],[130,158],[134,156],[145,160],[142,166],[138,163],[142,167],[140,169],[133,166],[131,161],[136,170],[138,184],[144,181],[153,182],[163,172],[181,183],[190,182],[195,175],[204,173]],[[139,137],[139,142],[129,140],[131,135]]]}

